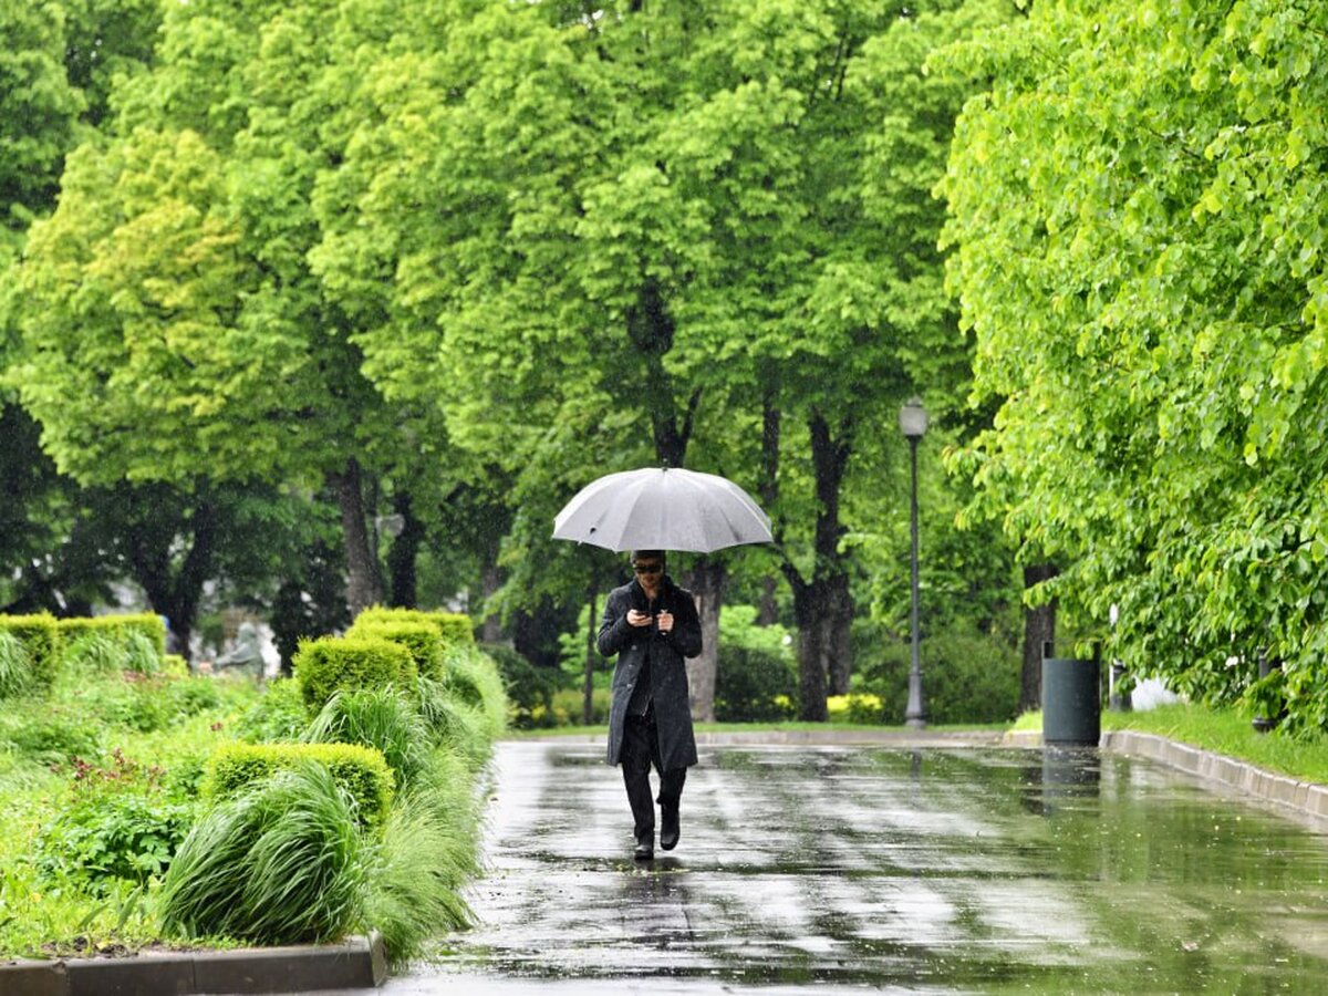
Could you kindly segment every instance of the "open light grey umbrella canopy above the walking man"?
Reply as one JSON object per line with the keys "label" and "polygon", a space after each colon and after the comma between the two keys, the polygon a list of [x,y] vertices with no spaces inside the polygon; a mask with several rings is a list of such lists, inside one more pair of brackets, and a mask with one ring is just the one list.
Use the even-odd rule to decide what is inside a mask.
{"label": "open light grey umbrella canopy above the walking man", "polygon": [[554,519],[554,539],[607,550],[708,554],[769,543],[770,517],[728,478],[679,467],[624,470],[591,481]]}

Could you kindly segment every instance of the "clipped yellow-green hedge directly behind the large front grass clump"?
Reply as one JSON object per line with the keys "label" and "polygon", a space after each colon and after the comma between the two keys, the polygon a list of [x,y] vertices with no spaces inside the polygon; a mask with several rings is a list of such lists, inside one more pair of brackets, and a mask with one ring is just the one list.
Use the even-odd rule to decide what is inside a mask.
{"label": "clipped yellow-green hedge directly behind the large front grass clump", "polygon": [[203,794],[224,799],[271,774],[313,761],[355,799],[365,826],[381,826],[396,780],[381,750],[363,744],[228,744],[208,761]]}

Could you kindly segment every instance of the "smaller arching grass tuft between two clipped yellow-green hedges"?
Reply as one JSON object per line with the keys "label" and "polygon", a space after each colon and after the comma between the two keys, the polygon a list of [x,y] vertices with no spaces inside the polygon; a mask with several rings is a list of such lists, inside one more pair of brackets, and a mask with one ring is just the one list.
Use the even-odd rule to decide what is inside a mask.
{"label": "smaller arching grass tuft between two clipped yellow-green hedges", "polygon": [[361,744],[380,752],[396,785],[414,785],[429,768],[429,728],[396,688],[360,688],[333,695],[301,737],[308,744]]}

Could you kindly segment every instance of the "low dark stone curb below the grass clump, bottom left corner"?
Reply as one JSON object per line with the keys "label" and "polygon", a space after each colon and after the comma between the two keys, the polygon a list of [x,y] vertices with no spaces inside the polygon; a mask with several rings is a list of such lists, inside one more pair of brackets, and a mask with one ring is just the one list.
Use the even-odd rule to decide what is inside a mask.
{"label": "low dark stone curb below the grass clump, bottom left corner", "polygon": [[243,951],[171,951],[0,965],[0,996],[202,996],[382,985],[382,938]]}

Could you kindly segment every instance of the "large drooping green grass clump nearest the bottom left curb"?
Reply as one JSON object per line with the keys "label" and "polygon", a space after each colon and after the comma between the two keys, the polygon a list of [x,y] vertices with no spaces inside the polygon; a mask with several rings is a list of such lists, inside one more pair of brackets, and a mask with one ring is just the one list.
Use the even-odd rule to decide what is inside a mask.
{"label": "large drooping green grass clump nearest the bottom left curb", "polygon": [[323,764],[247,782],[206,811],[175,854],[162,883],[163,930],[255,944],[345,935],[363,923],[372,857],[356,815]]}

